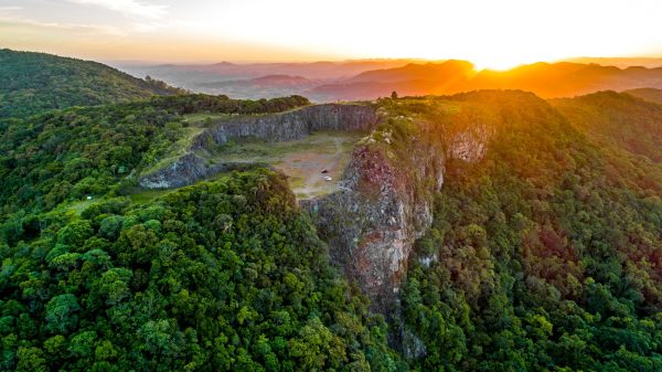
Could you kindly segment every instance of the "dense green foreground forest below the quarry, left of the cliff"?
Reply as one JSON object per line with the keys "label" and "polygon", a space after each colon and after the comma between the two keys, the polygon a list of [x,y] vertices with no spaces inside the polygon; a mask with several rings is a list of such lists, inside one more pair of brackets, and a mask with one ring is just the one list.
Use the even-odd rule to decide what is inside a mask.
{"label": "dense green foreground forest below the quarry, left of the cliff", "polygon": [[3,370],[397,368],[383,319],[329,266],[280,176],[47,219],[0,251]]}

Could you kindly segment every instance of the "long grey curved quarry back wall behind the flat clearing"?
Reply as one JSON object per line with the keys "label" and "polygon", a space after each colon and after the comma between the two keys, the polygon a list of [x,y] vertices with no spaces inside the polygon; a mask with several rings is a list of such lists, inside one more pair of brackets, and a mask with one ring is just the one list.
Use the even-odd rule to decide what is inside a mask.
{"label": "long grey curved quarry back wall behind the flat clearing", "polygon": [[222,171],[259,166],[214,163],[205,158],[205,152],[211,147],[224,145],[232,139],[287,141],[301,139],[317,130],[369,131],[376,120],[377,116],[372,107],[344,104],[314,105],[282,114],[221,120],[197,135],[186,153],[168,166],[141,176],[138,182],[146,189],[180,188]]}

